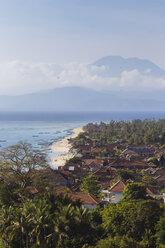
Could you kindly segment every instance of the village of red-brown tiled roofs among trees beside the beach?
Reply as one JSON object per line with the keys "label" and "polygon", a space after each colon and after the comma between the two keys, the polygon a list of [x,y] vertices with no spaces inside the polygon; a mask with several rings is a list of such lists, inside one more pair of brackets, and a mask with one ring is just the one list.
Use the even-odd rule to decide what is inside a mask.
{"label": "village of red-brown tiled roofs among trees beside the beach", "polygon": [[[165,202],[165,147],[158,142],[123,145],[119,137],[100,144],[90,136],[84,130],[70,139],[75,156],[57,171],[47,169],[47,179],[53,182],[56,194],[79,199],[91,210],[98,204],[119,202],[127,184],[143,183],[149,198]],[[97,197],[81,189],[89,175],[99,184]]]}

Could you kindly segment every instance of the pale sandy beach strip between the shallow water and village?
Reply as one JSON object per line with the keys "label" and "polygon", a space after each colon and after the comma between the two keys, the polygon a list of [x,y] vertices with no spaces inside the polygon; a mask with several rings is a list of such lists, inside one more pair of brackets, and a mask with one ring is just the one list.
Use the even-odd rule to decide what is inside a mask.
{"label": "pale sandy beach strip between the shallow water and village", "polygon": [[74,153],[70,151],[71,145],[69,144],[68,139],[78,136],[79,133],[83,132],[83,128],[74,128],[73,132],[73,135],[68,136],[52,145],[51,149],[53,152],[61,153],[61,155],[57,155],[53,158],[52,166],[64,166],[67,159],[74,157]]}

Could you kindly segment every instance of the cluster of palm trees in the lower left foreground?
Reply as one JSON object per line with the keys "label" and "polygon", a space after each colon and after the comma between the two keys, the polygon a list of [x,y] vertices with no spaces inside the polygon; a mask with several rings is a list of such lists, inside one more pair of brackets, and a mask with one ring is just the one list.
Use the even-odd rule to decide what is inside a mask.
{"label": "cluster of palm trees in the lower left foreground", "polygon": [[9,247],[68,247],[93,244],[96,239],[91,213],[84,207],[63,204],[47,194],[0,210],[0,236]]}

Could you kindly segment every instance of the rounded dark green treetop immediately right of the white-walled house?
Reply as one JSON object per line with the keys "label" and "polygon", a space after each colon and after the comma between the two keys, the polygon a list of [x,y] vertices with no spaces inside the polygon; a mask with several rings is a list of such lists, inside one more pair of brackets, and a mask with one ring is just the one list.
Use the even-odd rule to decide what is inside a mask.
{"label": "rounded dark green treetop immediately right of the white-walled house", "polygon": [[146,199],[146,186],[142,183],[129,183],[125,186],[122,201]]}

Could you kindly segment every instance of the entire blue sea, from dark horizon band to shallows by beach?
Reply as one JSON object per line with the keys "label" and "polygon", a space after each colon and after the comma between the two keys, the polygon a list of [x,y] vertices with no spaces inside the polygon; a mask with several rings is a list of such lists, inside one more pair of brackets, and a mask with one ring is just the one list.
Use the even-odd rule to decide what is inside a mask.
{"label": "entire blue sea, from dark horizon band to shallows by beach", "polygon": [[0,150],[26,141],[48,154],[53,143],[73,134],[72,129],[89,122],[110,120],[162,119],[165,112],[72,112],[72,113],[0,113]]}

